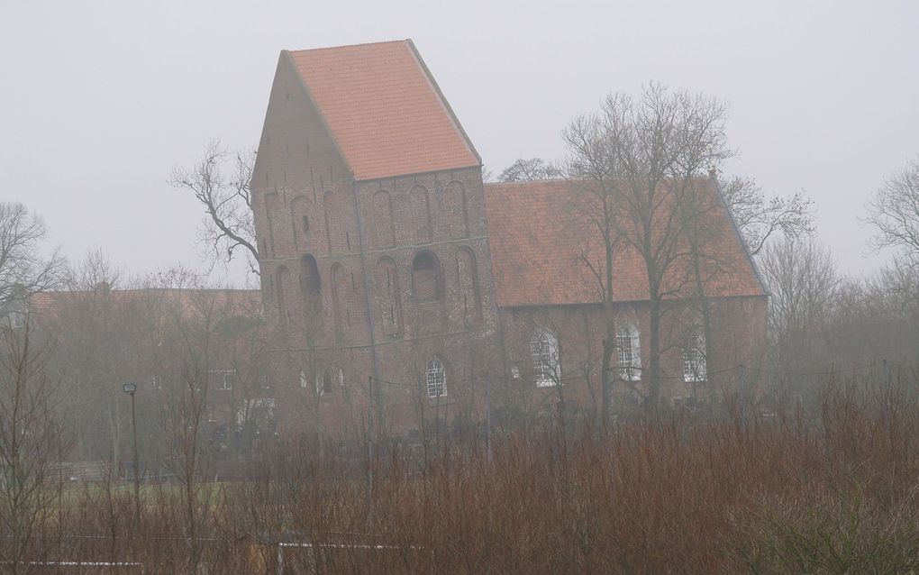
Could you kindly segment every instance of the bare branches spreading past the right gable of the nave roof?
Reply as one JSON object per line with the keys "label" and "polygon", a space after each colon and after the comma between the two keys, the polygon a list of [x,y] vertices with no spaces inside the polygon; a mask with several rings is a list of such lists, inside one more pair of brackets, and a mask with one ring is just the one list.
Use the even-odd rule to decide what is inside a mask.
{"label": "bare branches spreading past the right gable of the nave roof", "polygon": [[740,228],[750,254],[758,255],[770,238],[813,233],[814,205],[804,190],[766,198],[754,178],[719,178],[721,195]]}

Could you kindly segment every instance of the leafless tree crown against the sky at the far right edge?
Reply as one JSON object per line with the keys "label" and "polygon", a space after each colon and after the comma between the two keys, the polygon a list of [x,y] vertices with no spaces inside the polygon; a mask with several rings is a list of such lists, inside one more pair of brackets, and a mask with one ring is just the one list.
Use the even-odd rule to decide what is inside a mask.
{"label": "leafless tree crown against the sky at the far right edge", "polygon": [[884,180],[865,211],[863,221],[875,229],[872,247],[894,247],[919,259],[919,155]]}

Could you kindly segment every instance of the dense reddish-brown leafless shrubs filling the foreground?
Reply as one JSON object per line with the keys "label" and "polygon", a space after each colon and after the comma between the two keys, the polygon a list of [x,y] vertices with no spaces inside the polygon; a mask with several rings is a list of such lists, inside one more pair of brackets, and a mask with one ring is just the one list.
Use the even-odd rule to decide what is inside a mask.
{"label": "dense reddish-brown leafless shrubs filling the foreground", "polygon": [[[420,469],[392,446],[373,462],[372,497],[354,459],[304,442],[209,498],[199,570],[252,572],[244,536],[256,534],[317,544],[284,547],[289,572],[915,571],[917,399],[913,382],[836,382],[812,413],[571,422],[505,438],[492,457],[441,447]],[[183,502],[168,489],[147,497],[140,538],[130,491],[77,497],[47,525],[42,557],[189,570]],[[256,548],[274,569],[278,547]]]}

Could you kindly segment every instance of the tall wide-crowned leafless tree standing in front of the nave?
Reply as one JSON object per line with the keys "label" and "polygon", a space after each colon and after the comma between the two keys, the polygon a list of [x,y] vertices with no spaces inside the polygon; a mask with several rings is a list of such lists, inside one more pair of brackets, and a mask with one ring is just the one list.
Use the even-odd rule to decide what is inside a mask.
{"label": "tall wide-crowned leafless tree standing in front of the nave", "polygon": [[[649,357],[646,405],[660,395],[661,322],[666,300],[681,295],[675,268],[686,264],[685,229],[679,206],[698,178],[732,155],[726,146],[727,106],[717,98],[646,86],[639,98],[613,94],[600,111],[576,118],[563,136],[568,144],[569,177],[595,200],[592,219],[607,231],[600,236],[605,261],[597,262],[607,317],[613,317],[616,293],[614,259],[620,252],[638,254],[646,272],[649,300]],[[609,208],[604,204],[608,203]],[[607,319],[607,339],[613,333]],[[604,355],[615,344],[608,341]],[[603,359],[608,374],[608,357]],[[608,385],[608,384],[607,384]]]}

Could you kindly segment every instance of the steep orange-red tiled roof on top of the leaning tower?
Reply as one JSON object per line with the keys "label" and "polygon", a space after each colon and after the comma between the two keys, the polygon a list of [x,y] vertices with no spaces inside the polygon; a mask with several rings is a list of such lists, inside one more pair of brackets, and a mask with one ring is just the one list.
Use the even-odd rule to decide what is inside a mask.
{"label": "steep orange-red tiled roof on top of the leaning tower", "polygon": [[289,55],[356,179],[482,164],[412,40]]}

